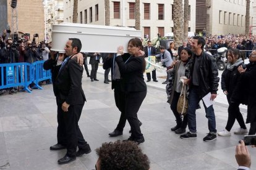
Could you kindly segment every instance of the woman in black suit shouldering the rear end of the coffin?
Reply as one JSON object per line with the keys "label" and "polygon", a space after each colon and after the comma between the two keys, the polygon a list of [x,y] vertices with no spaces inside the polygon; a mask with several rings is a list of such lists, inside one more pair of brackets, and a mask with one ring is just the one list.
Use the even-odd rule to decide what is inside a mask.
{"label": "woman in black suit shouldering the rear end of the coffin", "polygon": [[124,115],[130,124],[132,131],[127,140],[132,140],[137,144],[143,143],[144,137],[140,131],[137,112],[147,94],[147,85],[143,78],[145,71],[145,59],[142,55],[142,41],[139,38],[132,38],[128,44],[130,55],[121,55],[124,47],[120,46],[117,51],[116,62],[121,73],[121,91],[124,92],[125,110]]}

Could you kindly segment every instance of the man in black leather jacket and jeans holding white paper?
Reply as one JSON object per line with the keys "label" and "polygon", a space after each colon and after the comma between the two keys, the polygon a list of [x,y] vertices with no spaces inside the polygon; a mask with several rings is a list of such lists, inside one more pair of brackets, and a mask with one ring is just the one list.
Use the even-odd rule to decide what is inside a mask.
{"label": "man in black leather jacket and jeans holding white paper", "polygon": [[[203,51],[205,39],[201,36],[194,36],[192,44],[193,63],[190,75],[190,93],[189,93],[189,107],[187,111],[189,132],[181,135],[182,139],[196,139],[197,138],[197,124],[195,110],[198,107],[198,102],[210,93],[210,100],[214,100],[218,91],[218,68],[216,67],[215,59]],[[213,105],[205,107],[206,117],[208,118],[209,133],[203,138],[203,141],[212,141],[216,139],[216,121]]]}

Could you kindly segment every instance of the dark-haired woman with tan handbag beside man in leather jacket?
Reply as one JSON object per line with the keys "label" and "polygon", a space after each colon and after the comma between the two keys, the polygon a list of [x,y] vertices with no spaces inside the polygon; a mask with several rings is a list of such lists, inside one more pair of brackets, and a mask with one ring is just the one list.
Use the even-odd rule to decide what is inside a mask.
{"label": "dark-haired woman with tan handbag beside man in leather jacket", "polygon": [[[179,100],[179,96],[182,91],[182,83],[180,78],[182,76],[190,77],[190,67],[192,67],[192,51],[189,48],[184,48],[181,51],[181,60],[176,60],[173,62],[174,65],[173,70],[171,70],[171,76],[166,85],[166,92],[168,95],[168,101],[171,105],[171,110],[176,118],[176,126],[171,128],[171,131],[176,132],[176,134],[182,134],[186,132],[187,127],[187,116],[184,113],[184,118],[182,121],[181,115],[177,111],[177,103]],[[184,79],[184,86],[187,86],[189,79]],[[188,86],[187,86],[188,87]],[[186,94],[187,94],[186,88]],[[186,96],[187,97],[187,96]]]}

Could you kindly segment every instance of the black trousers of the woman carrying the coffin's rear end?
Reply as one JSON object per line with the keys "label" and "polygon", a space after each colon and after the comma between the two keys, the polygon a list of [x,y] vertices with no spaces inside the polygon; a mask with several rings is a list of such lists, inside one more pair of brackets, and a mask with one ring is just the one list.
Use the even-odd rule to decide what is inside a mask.
{"label": "black trousers of the woman carrying the coffin's rear end", "polygon": [[143,134],[140,131],[137,113],[146,95],[147,91],[127,92],[125,94],[124,114],[126,115],[126,119],[130,124],[130,130],[132,131],[131,137],[134,139],[141,139],[143,137]]}

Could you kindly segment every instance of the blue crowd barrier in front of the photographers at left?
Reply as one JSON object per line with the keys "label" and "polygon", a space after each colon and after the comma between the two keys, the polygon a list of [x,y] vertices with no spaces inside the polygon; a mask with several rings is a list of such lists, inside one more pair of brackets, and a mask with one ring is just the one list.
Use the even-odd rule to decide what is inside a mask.
{"label": "blue crowd barrier in front of the photographers at left", "polygon": [[44,62],[0,64],[0,89],[22,86],[23,91],[31,93],[28,89],[31,83],[35,83],[38,89],[43,89],[38,83],[46,79],[51,81],[51,70],[43,69]]}

